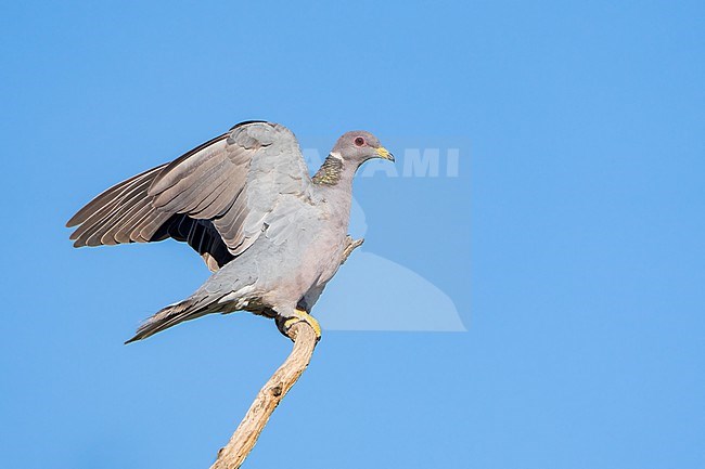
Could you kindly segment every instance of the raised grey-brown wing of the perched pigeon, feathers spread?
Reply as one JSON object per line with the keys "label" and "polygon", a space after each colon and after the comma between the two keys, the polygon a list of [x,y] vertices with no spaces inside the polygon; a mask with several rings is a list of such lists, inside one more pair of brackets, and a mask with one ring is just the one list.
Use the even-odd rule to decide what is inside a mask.
{"label": "raised grey-brown wing of the perched pigeon, feathers spread", "polygon": [[215,271],[265,230],[281,235],[286,214],[307,204],[310,183],[289,129],[242,122],[171,162],[114,185],[66,225],[78,225],[70,235],[76,247],[172,237],[189,243]]}

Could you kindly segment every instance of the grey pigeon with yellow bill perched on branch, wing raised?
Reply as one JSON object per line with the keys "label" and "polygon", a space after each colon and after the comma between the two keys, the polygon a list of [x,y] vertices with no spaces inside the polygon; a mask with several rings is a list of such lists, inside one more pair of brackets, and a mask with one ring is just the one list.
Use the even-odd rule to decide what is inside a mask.
{"label": "grey pigeon with yellow bill perched on branch, wing raised", "polygon": [[341,136],[310,178],[284,126],[241,122],[103,192],[67,226],[75,247],[188,243],[214,274],[183,301],[148,318],[126,343],[209,313],[249,311],[283,334],[310,311],[345,260],[352,177],[364,161],[394,161],[369,132]]}

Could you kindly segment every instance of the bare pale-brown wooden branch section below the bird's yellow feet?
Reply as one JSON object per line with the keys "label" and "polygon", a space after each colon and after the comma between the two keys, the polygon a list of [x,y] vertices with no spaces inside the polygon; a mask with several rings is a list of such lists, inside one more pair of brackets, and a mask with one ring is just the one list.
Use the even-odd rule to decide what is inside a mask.
{"label": "bare pale-brown wooden branch section below the bird's yellow feet", "polygon": [[218,458],[210,469],[238,469],[242,465],[257,443],[272,412],[311,361],[316,348],[313,328],[304,322],[296,323],[289,329],[289,337],[294,341],[292,353],[259,390],[245,418],[228,444],[218,452]]}

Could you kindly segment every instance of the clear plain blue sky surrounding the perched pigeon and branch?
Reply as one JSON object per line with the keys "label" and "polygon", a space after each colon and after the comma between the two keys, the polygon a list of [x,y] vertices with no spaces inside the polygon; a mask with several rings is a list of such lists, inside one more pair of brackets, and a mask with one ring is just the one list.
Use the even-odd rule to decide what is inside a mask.
{"label": "clear plain blue sky surrounding the perched pigeon and branch", "polygon": [[123,346],[207,271],[63,225],[256,118],[321,152],[371,130],[398,168],[460,148],[357,181],[364,250],[320,307],[467,331],[326,331],[247,467],[705,466],[705,5],[439,3],[0,8],[3,466],[213,461],[290,343],[240,314]]}

